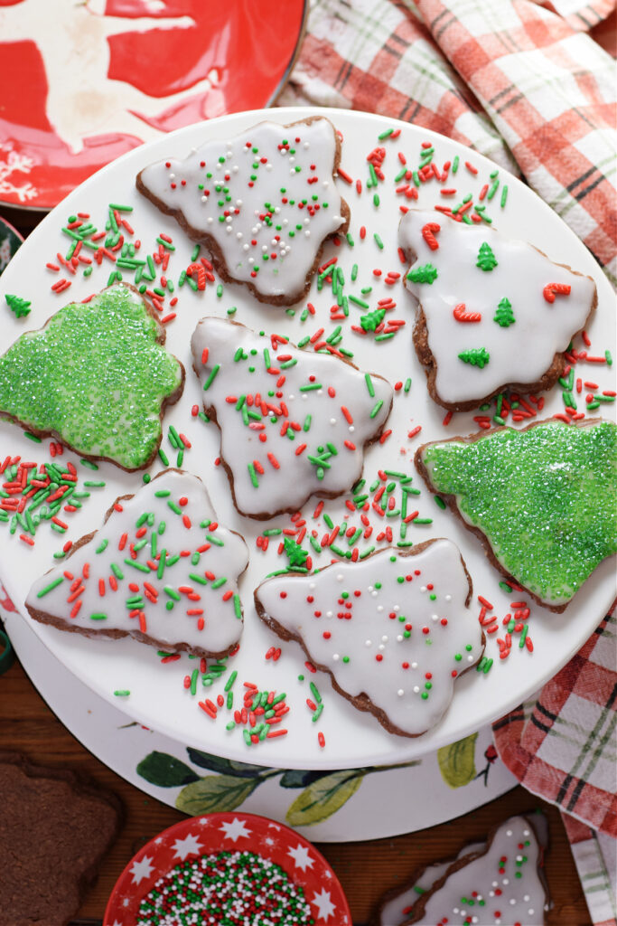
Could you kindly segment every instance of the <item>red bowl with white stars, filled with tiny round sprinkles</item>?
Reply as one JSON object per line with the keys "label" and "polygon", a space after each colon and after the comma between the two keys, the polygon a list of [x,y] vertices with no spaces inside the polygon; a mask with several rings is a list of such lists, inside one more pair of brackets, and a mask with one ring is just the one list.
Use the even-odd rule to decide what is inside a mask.
{"label": "red bowl with white stars, filled with tiny round sprinkles", "polygon": [[185,921],[352,926],[352,915],[334,871],[297,832],[254,814],[213,813],[181,820],[144,845],[120,875],[103,923]]}

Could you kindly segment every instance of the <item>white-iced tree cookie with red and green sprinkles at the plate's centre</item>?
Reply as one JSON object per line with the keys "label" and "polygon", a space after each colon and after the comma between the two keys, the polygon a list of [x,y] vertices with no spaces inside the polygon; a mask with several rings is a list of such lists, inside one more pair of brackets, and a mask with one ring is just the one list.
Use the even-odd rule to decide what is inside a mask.
{"label": "white-iced tree cookie with red and green sprinkles at the plate's centre", "polygon": [[389,382],[223,319],[202,319],[191,344],[241,514],[297,511],[312,494],[332,498],[357,481],[364,446],[389,416]]}

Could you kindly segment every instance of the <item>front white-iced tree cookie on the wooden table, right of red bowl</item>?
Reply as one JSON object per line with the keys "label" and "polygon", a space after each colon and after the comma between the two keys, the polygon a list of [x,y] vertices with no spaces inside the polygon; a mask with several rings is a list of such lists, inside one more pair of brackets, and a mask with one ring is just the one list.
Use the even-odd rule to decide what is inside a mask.
{"label": "front white-iced tree cookie on the wooden table, right of red bowl", "polygon": [[453,861],[445,874],[420,895],[411,917],[401,926],[542,926],[549,899],[543,865],[544,849],[534,826],[526,817],[511,817],[491,834],[484,850],[475,849]]}

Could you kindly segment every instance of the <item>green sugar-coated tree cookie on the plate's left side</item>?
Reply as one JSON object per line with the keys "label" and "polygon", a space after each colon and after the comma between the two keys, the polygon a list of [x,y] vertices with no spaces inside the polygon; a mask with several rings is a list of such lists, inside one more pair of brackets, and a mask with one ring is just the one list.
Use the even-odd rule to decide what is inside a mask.
{"label": "green sugar-coated tree cookie on the plate's left side", "polygon": [[142,469],[184,386],[165,337],[154,309],[125,284],[71,303],[0,357],[0,417],[82,457]]}

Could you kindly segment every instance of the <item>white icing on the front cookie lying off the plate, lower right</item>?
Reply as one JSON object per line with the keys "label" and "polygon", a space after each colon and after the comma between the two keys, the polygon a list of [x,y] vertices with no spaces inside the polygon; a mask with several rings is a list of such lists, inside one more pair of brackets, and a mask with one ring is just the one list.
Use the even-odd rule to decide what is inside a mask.
{"label": "white icing on the front cookie lying off the plate, lower right", "polygon": [[[438,923],[446,917],[451,922],[452,915],[460,910],[464,911],[464,916],[475,917],[475,921],[483,926],[512,923],[512,916],[521,926],[541,926],[544,916],[534,912],[542,910],[545,902],[544,885],[537,870],[540,847],[535,833],[528,831],[523,817],[506,820],[487,846],[486,854],[452,872],[443,887],[427,899],[424,915],[417,922]],[[524,845],[527,841],[529,845]],[[519,845],[524,845],[524,849],[519,849]],[[499,873],[502,857],[506,857],[503,868],[509,877]],[[526,860],[521,861],[523,858]],[[517,872],[520,872],[520,878],[516,877]],[[498,891],[501,893],[498,894]],[[473,905],[468,903],[469,900],[474,901]],[[484,904],[480,905],[480,900]],[[512,907],[516,907],[516,912]]]}

